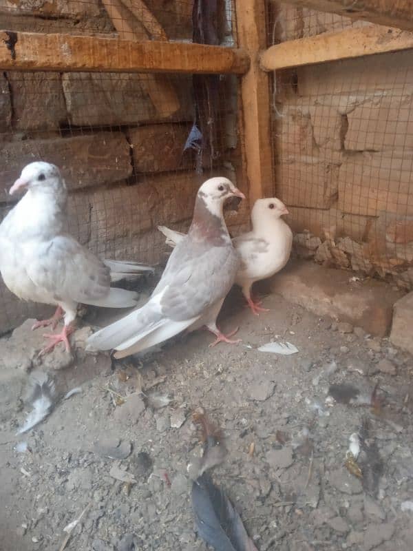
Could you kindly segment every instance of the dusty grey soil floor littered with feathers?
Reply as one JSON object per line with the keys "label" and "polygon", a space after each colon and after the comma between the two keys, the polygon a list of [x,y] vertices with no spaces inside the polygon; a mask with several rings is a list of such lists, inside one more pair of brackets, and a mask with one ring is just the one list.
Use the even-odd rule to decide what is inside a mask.
{"label": "dusty grey soil floor littered with feathers", "polygon": [[[194,532],[187,472],[201,450],[191,421],[198,406],[220,424],[229,449],[213,479],[260,551],[413,549],[411,357],[276,295],[259,318],[236,298],[222,327],[239,324],[242,344],[210,349],[211,335],[200,331],[140,368],[129,361],[111,370],[106,362],[28,435],[14,436],[25,410],[8,404],[1,550],[59,550],[63,528],[85,508],[66,550],[206,550]],[[254,348],[277,335],[299,353]],[[333,386],[337,400],[328,397],[343,383],[357,390]],[[345,466],[358,431],[361,479]],[[21,441],[25,453],[16,450]],[[136,484],[112,477],[114,466]]]}

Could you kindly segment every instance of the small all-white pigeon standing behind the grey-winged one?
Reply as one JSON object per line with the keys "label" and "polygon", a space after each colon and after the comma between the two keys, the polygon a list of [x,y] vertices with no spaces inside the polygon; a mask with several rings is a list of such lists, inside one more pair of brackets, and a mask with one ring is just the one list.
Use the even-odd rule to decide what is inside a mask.
{"label": "small all-white pigeon standing behind the grey-winged one", "polygon": [[[251,298],[253,283],[271,278],[284,268],[290,258],[293,232],[282,220],[283,214],[288,214],[288,210],[279,199],[258,199],[251,211],[253,230],[233,239],[233,245],[241,257],[235,283],[242,288],[248,305],[256,315],[268,310],[260,307],[261,302]],[[158,226],[158,229],[166,236],[166,243],[171,247],[185,235],[165,226]]]}

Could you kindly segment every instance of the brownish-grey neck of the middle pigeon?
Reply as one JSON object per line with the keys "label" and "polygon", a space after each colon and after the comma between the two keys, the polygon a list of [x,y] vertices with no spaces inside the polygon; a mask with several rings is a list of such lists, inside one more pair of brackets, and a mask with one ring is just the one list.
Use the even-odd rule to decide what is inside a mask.
{"label": "brownish-grey neck of the middle pigeon", "polygon": [[189,236],[197,241],[207,240],[213,245],[224,245],[230,241],[222,214],[223,203],[207,202],[203,196],[198,195],[195,200],[193,219],[189,228]]}

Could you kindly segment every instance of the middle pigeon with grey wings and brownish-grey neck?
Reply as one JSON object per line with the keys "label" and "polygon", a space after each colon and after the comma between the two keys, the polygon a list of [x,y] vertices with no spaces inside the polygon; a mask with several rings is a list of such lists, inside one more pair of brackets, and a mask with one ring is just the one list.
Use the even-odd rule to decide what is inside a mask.
{"label": "middle pigeon with grey wings and brownish-grey neck", "polygon": [[202,326],[216,336],[211,346],[238,342],[229,339],[236,331],[223,335],[216,325],[240,264],[222,214],[231,196],[244,198],[228,178],[202,184],[188,235],[171,253],[147,304],[91,335],[89,349],[116,349],[115,357],[125,357]]}

